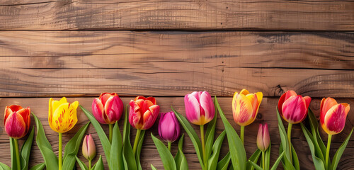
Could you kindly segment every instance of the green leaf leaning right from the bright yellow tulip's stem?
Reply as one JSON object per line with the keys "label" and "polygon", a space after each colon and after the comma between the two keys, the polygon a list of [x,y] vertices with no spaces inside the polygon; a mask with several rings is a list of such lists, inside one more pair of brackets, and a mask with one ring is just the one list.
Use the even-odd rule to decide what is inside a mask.
{"label": "green leaf leaning right from the bright yellow tulip's stem", "polygon": [[62,169],[74,169],[75,162],[76,162],[75,156],[77,152],[79,152],[82,138],[84,137],[85,132],[89,127],[89,125],[90,122],[86,123],[86,125],[81,127],[79,131],[76,132],[74,137],[72,137],[72,139],[69,140],[69,142],[67,142],[67,145],[65,145],[64,162],[63,162]]}

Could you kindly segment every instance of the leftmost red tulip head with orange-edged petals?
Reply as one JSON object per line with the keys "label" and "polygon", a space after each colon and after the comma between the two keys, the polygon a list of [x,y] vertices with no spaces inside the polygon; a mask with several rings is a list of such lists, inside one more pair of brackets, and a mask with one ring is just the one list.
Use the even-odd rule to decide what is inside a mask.
{"label": "leftmost red tulip head with orange-edged petals", "polygon": [[19,139],[27,135],[30,129],[30,108],[18,105],[6,106],[4,128],[9,137]]}

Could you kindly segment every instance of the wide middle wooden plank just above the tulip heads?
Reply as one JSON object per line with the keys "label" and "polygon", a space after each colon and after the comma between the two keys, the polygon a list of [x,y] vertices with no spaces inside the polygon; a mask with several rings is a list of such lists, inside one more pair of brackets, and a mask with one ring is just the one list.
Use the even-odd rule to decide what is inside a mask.
{"label": "wide middle wooden plank just above the tulip heads", "polygon": [[354,97],[354,33],[0,32],[0,96]]}

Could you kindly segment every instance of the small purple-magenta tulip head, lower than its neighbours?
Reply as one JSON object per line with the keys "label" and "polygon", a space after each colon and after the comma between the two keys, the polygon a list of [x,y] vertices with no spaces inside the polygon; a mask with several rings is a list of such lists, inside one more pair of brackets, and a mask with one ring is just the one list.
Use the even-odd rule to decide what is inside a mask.
{"label": "small purple-magenta tulip head, lower than its neighbours", "polygon": [[166,142],[174,142],[181,132],[176,115],[173,112],[161,113],[159,135]]}

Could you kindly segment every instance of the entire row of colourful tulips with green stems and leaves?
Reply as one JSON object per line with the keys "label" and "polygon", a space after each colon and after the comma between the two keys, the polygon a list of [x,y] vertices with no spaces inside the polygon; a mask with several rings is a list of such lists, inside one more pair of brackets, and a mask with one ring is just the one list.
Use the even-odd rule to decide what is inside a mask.
{"label": "entire row of colourful tulips with green stems and leaves", "polygon": [[[220,108],[217,98],[214,101],[207,91],[195,91],[192,94],[185,95],[185,115],[171,107],[171,112],[161,113],[159,120],[159,136],[167,142],[164,142],[151,134],[152,140],[156,145],[165,169],[188,169],[187,160],[183,154],[183,136],[181,135],[180,125],[190,137],[198,155],[200,166],[203,170],[214,169],[270,169],[270,137],[268,124],[260,124],[257,135],[258,149],[247,160],[244,149],[244,130],[247,125],[253,123],[256,119],[263,94],[257,92],[250,94],[246,89],[234,94],[232,100],[232,111],[234,122],[241,127],[240,136],[236,133],[232,125],[225,117],[222,108]],[[331,136],[341,132],[346,123],[346,116],[350,106],[348,103],[337,103],[333,98],[324,98],[321,101],[320,124],[321,128],[329,134],[327,147],[319,136],[319,124],[314,113],[309,109],[311,98],[297,95],[295,91],[287,91],[280,97],[276,109],[278,116],[278,128],[280,132],[280,150],[279,157],[271,169],[276,169],[282,162],[285,169],[299,169],[299,160],[291,142],[291,131],[293,124],[301,124],[304,136],[307,139],[312,153],[312,159],[316,169],[336,169],[336,166],[343,154],[348,140],[353,132],[350,132],[343,145],[338,149],[333,160],[329,160],[329,149],[331,145]],[[86,135],[86,129],[89,123],[92,123],[98,137],[101,141],[106,161],[110,169],[142,169],[139,157],[144,141],[145,130],[154,125],[159,116],[159,105],[153,97],[144,98],[137,96],[130,101],[130,111],[127,113],[128,106],[125,107],[118,94],[103,93],[99,98],[95,98],[92,103],[92,113],[86,108],[80,106],[90,122],[84,125],[72,139],[67,142],[62,155],[62,133],[71,130],[77,123],[76,108],[79,102],[69,103],[67,98],[55,101],[50,98],[48,123],[50,128],[58,132],[59,136],[59,155],[54,153],[50,142],[45,136],[40,120],[32,113],[37,126],[36,143],[44,163],[33,166],[31,169],[74,169],[78,162],[81,169],[104,169],[102,157],[96,164],[91,166],[91,162],[96,157],[96,145],[92,136]],[[124,125],[122,133],[118,126],[118,120],[124,114]],[[216,114],[219,113],[224,124],[224,131],[215,139],[215,127],[217,123]],[[309,116],[307,116],[309,115]],[[285,131],[281,117],[287,121],[288,128]],[[302,124],[302,121],[308,118],[310,130]],[[193,129],[192,125],[200,126],[200,137]],[[101,124],[107,124],[109,127],[108,136],[105,135]],[[207,128],[205,130],[205,125]],[[130,128],[137,129],[133,145],[130,143]],[[30,147],[34,138],[34,129],[30,130],[30,108],[22,108],[18,105],[7,106],[4,114],[4,128],[10,137],[11,145],[11,167],[16,170],[28,169]],[[18,149],[18,139],[24,137],[30,132],[27,140],[23,143],[21,151]],[[181,136],[181,137],[180,137]],[[227,136],[229,143],[229,152],[219,159],[220,149],[224,137]],[[171,153],[171,142],[178,140],[178,152],[175,157]],[[76,155],[82,142],[82,154],[88,160],[89,166],[86,166]],[[258,159],[261,157],[261,160]],[[229,168],[229,162],[232,166]],[[259,162],[259,164],[258,164]],[[153,165],[152,169],[156,169]],[[9,166],[0,163],[0,169],[10,169]]]}

